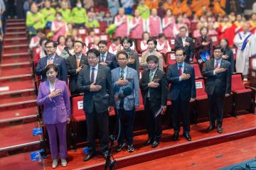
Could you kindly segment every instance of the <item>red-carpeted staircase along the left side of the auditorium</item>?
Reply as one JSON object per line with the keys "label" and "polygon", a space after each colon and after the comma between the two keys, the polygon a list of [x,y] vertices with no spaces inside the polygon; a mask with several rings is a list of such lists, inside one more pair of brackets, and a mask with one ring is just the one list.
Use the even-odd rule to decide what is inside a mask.
{"label": "red-carpeted staircase along the left side of the auditorium", "polygon": [[29,164],[29,152],[41,147],[41,136],[33,136],[37,117],[25,21],[8,20],[0,64],[0,164],[23,157]]}

